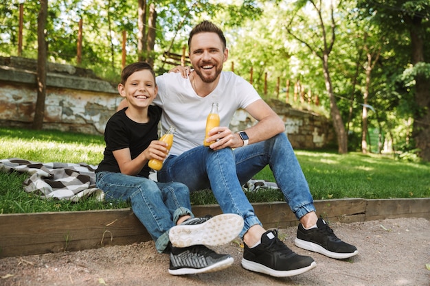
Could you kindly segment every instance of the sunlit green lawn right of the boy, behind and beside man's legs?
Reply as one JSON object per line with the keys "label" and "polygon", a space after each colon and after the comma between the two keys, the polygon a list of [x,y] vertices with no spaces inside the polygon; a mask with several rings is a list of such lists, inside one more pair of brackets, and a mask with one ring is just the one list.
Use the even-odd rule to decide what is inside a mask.
{"label": "sunlit green lawn right of the boy, behind and beside man's legs", "polygon": [[[409,163],[357,152],[339,155],[297,150],[295,153],[315,200],[430,197],[429,163]],[[274,180],[268,168],[256,178]]]}

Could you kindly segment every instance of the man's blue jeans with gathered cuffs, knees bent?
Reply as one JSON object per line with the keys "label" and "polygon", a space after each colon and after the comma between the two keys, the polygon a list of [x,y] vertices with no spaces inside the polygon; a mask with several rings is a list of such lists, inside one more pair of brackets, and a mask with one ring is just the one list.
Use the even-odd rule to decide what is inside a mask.
{"label": "man's blue jeans with gathered cuffs, knees bent", "polygon": [[194,147],[179,156],[170,155],[157,172],[159,182],[183,182],[190,191],[212,189],[223,213],[237,213],[245,220],[240,233],[261,222],[242,190],[242,184],[270,166],[275,180],[297,219],[315,211],[308,182],[286,134],[246,147],[214,151]]}

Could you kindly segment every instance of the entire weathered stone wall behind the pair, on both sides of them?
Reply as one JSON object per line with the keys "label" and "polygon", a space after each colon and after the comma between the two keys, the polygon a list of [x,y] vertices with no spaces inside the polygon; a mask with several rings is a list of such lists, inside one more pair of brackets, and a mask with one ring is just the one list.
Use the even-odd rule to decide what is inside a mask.
{"label": "entire weathered stone wall behind the pair, on both sides of them", "polygon": [[[36,62],[23,58],[0,58],[0,126],[30,128],[36,103]],[[103,134],[107,120],[122,100],[116,86],[100,80],[90,70],[49,64],[44,129]],[[268,104],[285,122],[293,147],[317,149],[334,142],[326,117],[295,110],[271,100]],[[245,110],[231,121],[233,131],[255,124]]]}

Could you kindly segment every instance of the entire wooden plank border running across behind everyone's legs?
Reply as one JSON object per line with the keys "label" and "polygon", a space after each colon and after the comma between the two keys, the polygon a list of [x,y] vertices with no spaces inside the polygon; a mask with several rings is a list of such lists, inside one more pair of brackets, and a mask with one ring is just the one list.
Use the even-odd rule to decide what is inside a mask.
{"label": "entire wooden plank border running across behind everyone's legs", "polygon": [[[285,202],[253,204],[265,228],[297,226]],[[316,200],[317,215],[335,222],[395,217],[430,219],[430,198]],[[218,215],[216,205],[194,206],[196,216]],[[76,251],[148,241],[151,237],[129,208],[106,211],[0,215],[0,257]]]}

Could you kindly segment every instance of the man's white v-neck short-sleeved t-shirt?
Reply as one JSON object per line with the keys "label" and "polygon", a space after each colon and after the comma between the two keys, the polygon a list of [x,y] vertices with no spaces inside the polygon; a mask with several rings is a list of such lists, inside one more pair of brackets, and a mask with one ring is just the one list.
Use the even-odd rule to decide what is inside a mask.
{"label": "man's white v-neck short-sleeved t-shirt", "polygon": [[261,99],[249,82],[231,71],[220,74],[218,86],[205,97],[200,97],[192,88],[189,78],[180,73],[164,73],[157,77],[158,94],[153,104],[163,109],[162,133],[174,126],[174,143],[169,154],[180,155],[199,145],[205,138],[206,118],[212,102],[218,103],[220,126],[229,126],[234,112],[247,108]]}

